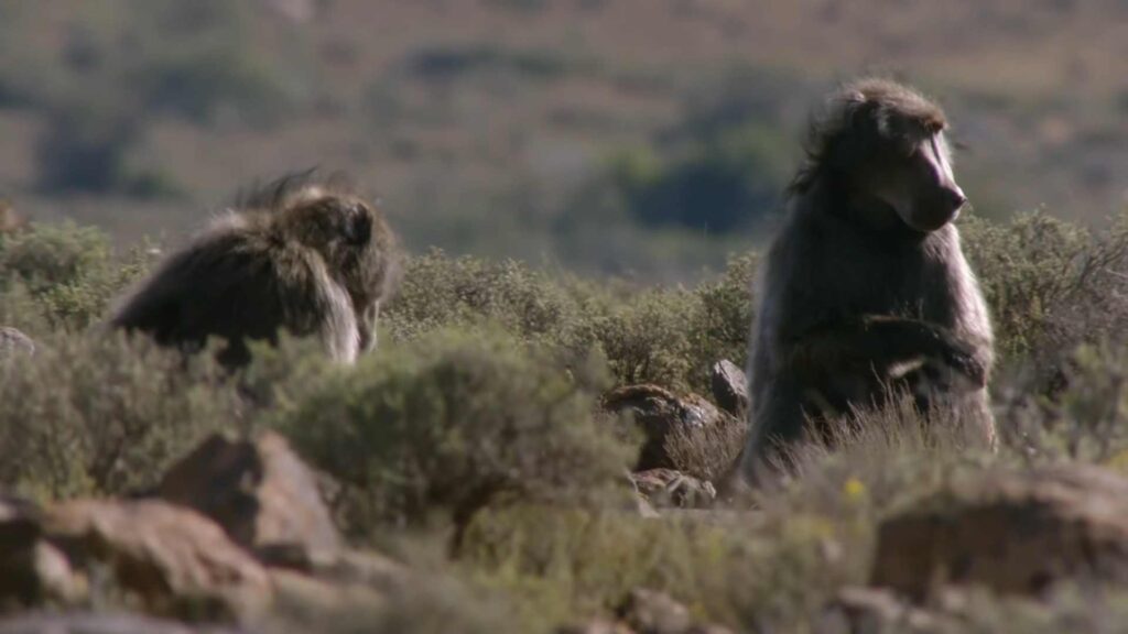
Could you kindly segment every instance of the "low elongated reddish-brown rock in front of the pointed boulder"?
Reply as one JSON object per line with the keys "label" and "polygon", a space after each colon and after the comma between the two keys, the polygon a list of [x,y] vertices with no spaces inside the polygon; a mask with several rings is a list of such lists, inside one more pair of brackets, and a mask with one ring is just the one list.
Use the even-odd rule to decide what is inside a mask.
{"label": "low elongated reddish-brown rock in front of the pointed boulder", "polygon": [[270,605],[267,572],[211,520],[160,501],[79,500],[0,513],[0,601],[73,605],[91,575],[157,615],[253,619]]}

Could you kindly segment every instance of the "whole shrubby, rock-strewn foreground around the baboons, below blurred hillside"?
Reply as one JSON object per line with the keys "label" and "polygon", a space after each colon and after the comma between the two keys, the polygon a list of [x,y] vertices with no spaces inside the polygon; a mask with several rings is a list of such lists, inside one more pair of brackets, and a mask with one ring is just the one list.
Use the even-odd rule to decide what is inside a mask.
{"label": "whole shrubby, rock-strewn foreground around the baboons, below blurred hillside", "polygon": [[644,289],[409,256],[377,353],[232,376],[100,329],[143,257],[17,222],[0,633],[1123,632],[1128,229],[961,228],[997,451],[891,406],[744,496],[755,255]]}

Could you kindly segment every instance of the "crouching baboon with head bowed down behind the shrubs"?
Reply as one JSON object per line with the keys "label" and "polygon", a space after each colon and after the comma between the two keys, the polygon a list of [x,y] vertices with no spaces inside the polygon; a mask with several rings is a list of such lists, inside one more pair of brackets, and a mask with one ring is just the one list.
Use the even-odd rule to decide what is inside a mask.
{"label": "crouching baboon with head bowed down behind the shrubs", "polygon": [[248,340],[274,343],[285,328],[352,362],[376,345],[398,272],[384,214],[340,178],[303,173],[245,195],[127,296],[111,325],[190,351],[220,337],[229,367],[249,360]]}

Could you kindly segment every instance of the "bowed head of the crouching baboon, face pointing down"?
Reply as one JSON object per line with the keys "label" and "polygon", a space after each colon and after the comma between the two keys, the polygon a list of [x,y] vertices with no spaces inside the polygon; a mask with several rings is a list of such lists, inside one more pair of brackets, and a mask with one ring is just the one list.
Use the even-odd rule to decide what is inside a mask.
{"label": "bowed head of the crouching baboon, face pointing down", "polygon": [[358,311],[390,296],[399,281],[399,247],[384,213],[341,178],[283,178],[244,203],[266,210],[277,234],[321,254]]}

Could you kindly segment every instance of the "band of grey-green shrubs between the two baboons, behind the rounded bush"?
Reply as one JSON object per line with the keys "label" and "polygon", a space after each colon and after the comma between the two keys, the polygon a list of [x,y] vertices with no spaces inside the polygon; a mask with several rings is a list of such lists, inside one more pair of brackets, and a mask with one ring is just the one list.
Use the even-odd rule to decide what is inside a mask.
{"label": "band of grey-green shrubs between the two baboons, behind the rounded bush", "polygon": [[584,282],[505,261],[442,252],[412,257],[404,287],[384,322],[397,341],[447,326],[495,324],[581,363],[598,346],[617,384],[653,382],[708,389],[713,363],[743,363],[751,322],[749,287],[756,258],[734,257],[715,282],[694,290],[634,290]]}

